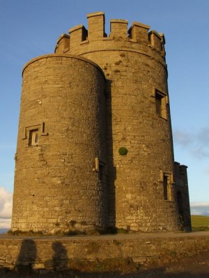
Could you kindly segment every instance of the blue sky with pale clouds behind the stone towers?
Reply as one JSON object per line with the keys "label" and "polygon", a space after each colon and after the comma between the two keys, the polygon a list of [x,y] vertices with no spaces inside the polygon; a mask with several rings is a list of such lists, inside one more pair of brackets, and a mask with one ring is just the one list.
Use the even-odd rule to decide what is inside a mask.
{"label": "blue sky with pale clouds behind the stone towers", "polygon": [[10,227],[22,67],[103,11],[164,33],[175,160],[188,166],[193,214],[209,215],[209,1],[0,0],[0,228]]}

